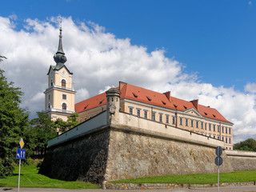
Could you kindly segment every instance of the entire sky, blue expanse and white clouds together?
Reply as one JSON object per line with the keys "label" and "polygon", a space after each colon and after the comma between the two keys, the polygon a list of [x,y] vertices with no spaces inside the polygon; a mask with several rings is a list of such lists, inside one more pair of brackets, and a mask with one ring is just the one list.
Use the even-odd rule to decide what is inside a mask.
{"label": "entire sky, blue expanse and white clouds together", "polygon": [[0,67],[35,118],[62,19],[76,102],[118,81],[170,90],[217,109],[234,123],[234,142],[256,139],[255,9],[256,0],[4,1]]}

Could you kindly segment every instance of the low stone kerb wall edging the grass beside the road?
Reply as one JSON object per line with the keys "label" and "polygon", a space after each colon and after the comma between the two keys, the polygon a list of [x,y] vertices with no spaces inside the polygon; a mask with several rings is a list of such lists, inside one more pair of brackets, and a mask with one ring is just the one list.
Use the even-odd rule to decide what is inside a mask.
{"label": "low stone kerb wall edging the grass beside the road", "polygon": [[[220,186],[250,186],[255,182],[222,182]],[[175,184],[175,183],[112,183],[105,182],[102,185],[103,190],[166,190],[166,189],[193,189],[216,187],[214,184]]]}

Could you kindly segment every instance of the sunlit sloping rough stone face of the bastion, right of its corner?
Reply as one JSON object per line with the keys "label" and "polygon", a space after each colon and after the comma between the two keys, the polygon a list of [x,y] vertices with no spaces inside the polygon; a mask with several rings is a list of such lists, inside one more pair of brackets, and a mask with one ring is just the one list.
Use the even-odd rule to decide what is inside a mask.
{"label": "sunlit sloping rough stone face of the bastion, right of its corner", "polygon": [[[106,181],[166,174],[216,173],[215,148],[165,135],[111,126]],[[222,154],[221,172],[233,171]]]}

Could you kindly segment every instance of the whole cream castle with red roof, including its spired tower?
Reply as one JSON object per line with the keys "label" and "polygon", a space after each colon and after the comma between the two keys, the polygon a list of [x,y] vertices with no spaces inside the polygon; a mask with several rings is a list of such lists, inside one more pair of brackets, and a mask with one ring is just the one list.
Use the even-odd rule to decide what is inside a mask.
{"label": "whole cream castle with red roof, including its spired tower", "polygon": [[[44,92],[45,111],[52,120],[62,118],[66,121],[70,114],[76,112],[78,122],[85,122],[107,110],[106,93],[74,104],[72,73],[64,65],[66,56],[62,49],[61,27],[54,61],[56,65],[50,66],[47,74],[48,88]],[[210,106],[202,106],[198,100],[188,102],[174,98],[170,91],[162,94],[126,82],[119,82],[117,89],[120,91],[118,110],[138,118],[221,140],[225,143],[226,150],[233,150],[233,123],[226,120],[218,110]]]}

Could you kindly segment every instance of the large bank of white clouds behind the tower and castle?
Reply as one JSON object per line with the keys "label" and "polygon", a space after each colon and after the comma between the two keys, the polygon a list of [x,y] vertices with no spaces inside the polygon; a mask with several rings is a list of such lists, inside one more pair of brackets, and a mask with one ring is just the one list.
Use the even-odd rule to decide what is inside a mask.
{"label": "large bank of white clouds behind the tower and castle", "polygon": [[[55,64],[56,26],[61,18],[28,18],[24,30],[15,30],[15,19],[0,17],[0,54],[8,58],[1,67],[9,81],[22,88],[22,106],[28,107],[33,117],[44,110],[42,93],[47,86],[46,73]],[[146,47],[132,46],[130,39],[118,39],[93,22],[62,18],[62,34],[66,66],[74,72],[76,102],[118,86],[118,81],[159,92],[170,90],[178,98],[198,98],[200,104],[216,108],[234,122],[234,142],[256,138],[256,83],[247,84],[246,92],[200,83],[195,74],[183,72],[181,63],[166,58],[164,50],[148,53]]]}

